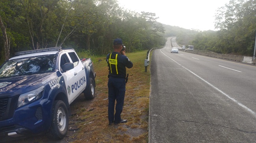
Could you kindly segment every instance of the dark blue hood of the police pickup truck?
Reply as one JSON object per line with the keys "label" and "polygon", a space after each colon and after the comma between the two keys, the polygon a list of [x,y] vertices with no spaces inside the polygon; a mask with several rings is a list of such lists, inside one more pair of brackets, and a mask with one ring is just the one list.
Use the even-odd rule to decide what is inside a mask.
{"label": "dark blue hood of the police pickup truck", "polygon": [[24,92],[36,89],[47,83],[48,79],[54,79],[56,72],[33,74],[27,76],[16,76],[10,78],[0,78],[0,94],[16,92],[22,94]]}

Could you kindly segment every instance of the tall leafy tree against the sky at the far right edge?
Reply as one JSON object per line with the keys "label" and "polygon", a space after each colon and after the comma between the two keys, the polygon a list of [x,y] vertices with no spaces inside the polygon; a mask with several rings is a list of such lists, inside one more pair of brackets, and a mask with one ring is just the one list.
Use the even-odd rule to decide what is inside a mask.
{"label": "tall leafy tree against the sky at the far right edge", "polygon": [[223,43],[223,52],[252,55],[256,31],[255,7],[255,0],[230,0],[229,4],[218,9],[215,28],[221,31],[219,42]]}

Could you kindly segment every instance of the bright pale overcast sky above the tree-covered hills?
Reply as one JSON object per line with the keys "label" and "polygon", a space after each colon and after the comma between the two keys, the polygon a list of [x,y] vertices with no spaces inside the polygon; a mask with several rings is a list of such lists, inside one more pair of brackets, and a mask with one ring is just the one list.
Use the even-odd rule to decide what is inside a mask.
{"label": "bright pale overcast sky above the tree-covered hills", "polygon": [[200,31],[214,28],[215,13],[230,0],[118,0],[131,11],[156,13],[157,22]]}

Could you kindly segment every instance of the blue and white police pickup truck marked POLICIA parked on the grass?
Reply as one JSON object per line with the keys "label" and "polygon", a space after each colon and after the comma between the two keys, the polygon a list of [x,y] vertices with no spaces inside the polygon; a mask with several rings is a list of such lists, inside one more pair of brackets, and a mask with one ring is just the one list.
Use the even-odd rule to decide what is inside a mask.
{"label": "blue and white police pickup truck marked POLICIA parked on the grass", "polygon": [[15,54],[0,67],[0,140],[43,132],[64,138],[70,103],[81,93],[95,98],[91,59],[61,47]]}

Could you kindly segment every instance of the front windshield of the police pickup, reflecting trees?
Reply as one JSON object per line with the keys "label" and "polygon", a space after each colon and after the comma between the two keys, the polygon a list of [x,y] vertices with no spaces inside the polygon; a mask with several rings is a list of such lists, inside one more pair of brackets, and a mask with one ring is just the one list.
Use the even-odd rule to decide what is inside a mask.
{"label": "front windshield of the police pickup, reflecting trees", "polygon": [[13,59],[1,67],[0,78],[52,72],[55,70],[55,65],[55,54]]}

